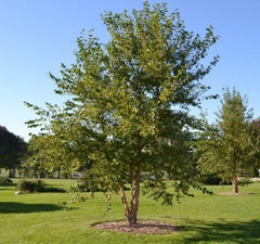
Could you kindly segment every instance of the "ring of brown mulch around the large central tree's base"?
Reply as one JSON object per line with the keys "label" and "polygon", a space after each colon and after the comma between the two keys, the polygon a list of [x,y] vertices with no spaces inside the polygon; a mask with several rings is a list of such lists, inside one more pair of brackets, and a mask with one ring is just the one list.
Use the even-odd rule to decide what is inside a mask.
{"label": "ring of brown mulch around the large central tree's base", "polygon": [[101,230],[132,234],[169,234],[177,231],[170,223],[153,220],[140,220],[131,227],[128,226],[127,221],[100,222],[93,224],[93,227]]}

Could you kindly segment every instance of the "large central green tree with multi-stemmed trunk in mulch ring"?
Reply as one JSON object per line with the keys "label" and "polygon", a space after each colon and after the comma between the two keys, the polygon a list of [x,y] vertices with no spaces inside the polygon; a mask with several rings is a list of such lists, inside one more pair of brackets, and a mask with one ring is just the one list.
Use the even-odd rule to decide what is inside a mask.
{"label": "large central green tree with multi-stemmed trunk in mulch ring", "polygon": [[[204,38],[185,29],[179,12],[164,3],[132,14],[107,12],[103,22],[110,35],[106,44],[90,33],[78,38],[76,63],[62,65],[54,79],[56,93],[69,95],[64,108],[32,106],[46,132],[66,142],[79,162],[92,162],[90,175],[109,191],[118,191],[129,224],[136,223],[141,182],[155,200],[171,204],[191,185],[191,151],[185,141],[209,88],[203,78],[218,62],[202,61],[217,41],[212,27]],[[205,62],[204,62],[205,63]],[[41,124],[42,125],[42,124]],[[168,192],[165,172],[174,179]],[[130,184],[130,201],[125,185]]]}

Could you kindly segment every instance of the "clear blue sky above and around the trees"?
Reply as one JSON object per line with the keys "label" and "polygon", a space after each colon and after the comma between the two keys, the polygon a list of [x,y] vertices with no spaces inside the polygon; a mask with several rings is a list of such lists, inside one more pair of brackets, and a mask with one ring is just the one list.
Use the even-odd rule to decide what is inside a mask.
{"label": "clear blue sky above and around the trees", "polygon": [[[155,0],[151,0],[153,4]],[[209,25],[220,39],[210,49],[220,61],[204,82],[212,94],[235,87],[247,95],[253,116],[260,116],[260,1],[165,0],[169,12],[178,9],[188,30],[204,36]],[[43,106],[60,103],[54,82],[61,63],[74,63],[76,39],[82,29],[106,42],[101,14],[142,9],[141,0],[0,0],[0,125],[29,139],[26,120],[36,118],[24,101]],[[216,119],[220,100],[203,102],[209,120]],[[194,112],[198,113],[198,112]]]}

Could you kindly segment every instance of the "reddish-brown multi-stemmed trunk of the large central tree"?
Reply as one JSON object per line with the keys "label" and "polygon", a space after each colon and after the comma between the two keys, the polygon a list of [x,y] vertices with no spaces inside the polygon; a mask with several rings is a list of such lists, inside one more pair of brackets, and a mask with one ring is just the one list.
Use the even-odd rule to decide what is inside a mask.
{"label": "reddish-brown multi-stemmed trunk of the large central tree", "polygon": [[133,179],[132,179],[130,205],[128,203],[123,187],[122,185],[120,187],[121,202],[125,207],[125,216],[127,218],[129,226],[136,224],[139,196],[140,196],[140,182],[141,182],[141,172],[139,169],[136,169],[134,170]]}

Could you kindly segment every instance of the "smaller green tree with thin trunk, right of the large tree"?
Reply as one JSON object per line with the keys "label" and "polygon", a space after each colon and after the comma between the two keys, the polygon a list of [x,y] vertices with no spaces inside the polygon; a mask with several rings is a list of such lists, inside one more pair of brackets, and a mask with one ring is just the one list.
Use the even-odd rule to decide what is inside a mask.
{"label": "smaller green tree with thin trunk, right of the large tree", "polygon": [[227,89],[217,124],[205,123],[205,130],[196,141],[199,169],[217,172],[223,180],[232,181],[234,193],[238,193],[239,177],[249,177],[256,166],[259,149],[251,130],[251,118],[239,92]]}

